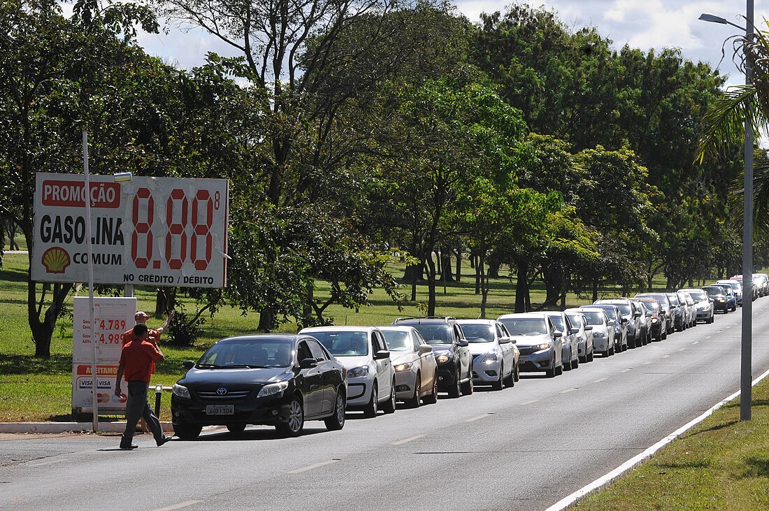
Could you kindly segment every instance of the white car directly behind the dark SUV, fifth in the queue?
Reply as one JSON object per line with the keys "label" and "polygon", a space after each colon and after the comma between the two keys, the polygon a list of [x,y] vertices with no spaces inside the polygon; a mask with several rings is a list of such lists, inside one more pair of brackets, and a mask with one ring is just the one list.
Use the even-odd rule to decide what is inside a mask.
{"label": "white car directly behind the dark SUV, fifth in the queue", "polygon": [[473,383],[491,385],[494,390],[513,387],[518,380],[520,352],[515,340],[499,321],[457,320],[470,343],[473,356]]}

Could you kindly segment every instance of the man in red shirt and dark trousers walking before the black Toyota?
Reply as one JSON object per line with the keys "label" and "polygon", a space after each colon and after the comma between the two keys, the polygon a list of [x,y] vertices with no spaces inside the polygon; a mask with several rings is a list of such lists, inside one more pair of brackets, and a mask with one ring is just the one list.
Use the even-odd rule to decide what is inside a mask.
{"label": "man in red shirt and dark trousers walking before the black Toyota", "polygon": [[128,382],[128,400],[125,402],[125,431],[120,441],[120,448],[124,450],[136,449],[132,444],[136,423],[144,418],[158,447],[171,440],[165,436],[158,417],[152,413],[147,399],[149,380],[155,362],[162,362],[164,357],[157,344],[148,342],[148,329],[145,324],[136,324],[132,329],[132,338],[123,345],[118,364],[118,377],[115,381],[115,395],[120,396],[120,383],[125,374]]}

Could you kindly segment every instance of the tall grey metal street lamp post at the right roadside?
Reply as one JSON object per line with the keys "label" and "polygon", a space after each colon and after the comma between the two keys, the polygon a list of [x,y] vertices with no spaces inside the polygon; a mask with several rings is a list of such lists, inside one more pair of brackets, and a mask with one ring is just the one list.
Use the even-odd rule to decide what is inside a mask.
{"label": "tall grey metal street lamp post at the right roadside", "polygon": [[[753,0],[747,0],[746,25],[741,27],[720,16],[703,13],[703,22],[721,23],[744,30],[748,41],[753,38]],[[745,84],[751,85],[753,69],[745,60]],[[740,357],[740,420],[751,420],[752,373],[751,350],[753,349],[753,125],[745,116],[745,169],[743,189],[742,231],[742,333]]]}

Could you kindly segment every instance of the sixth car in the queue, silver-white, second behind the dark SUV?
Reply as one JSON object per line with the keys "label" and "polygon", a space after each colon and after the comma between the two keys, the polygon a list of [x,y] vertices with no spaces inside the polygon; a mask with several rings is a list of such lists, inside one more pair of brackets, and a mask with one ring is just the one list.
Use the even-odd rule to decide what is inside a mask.
{"label": "sixth car in the queue, silver-white, second behind the dark SUV", "polygon": [[525,312],[502,314],[497,320],[516,341],[521,352],[521,371],[544,371],[551,378],[564,372],[564,340],[550,317],[541,312]]}

